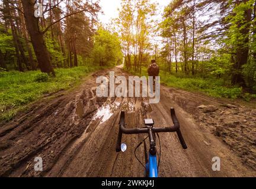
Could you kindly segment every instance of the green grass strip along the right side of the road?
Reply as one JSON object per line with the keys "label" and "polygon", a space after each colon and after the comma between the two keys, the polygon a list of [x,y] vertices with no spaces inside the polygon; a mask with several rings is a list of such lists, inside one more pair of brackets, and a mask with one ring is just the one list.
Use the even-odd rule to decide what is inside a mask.
{"label": "green grass strip along the right side of the road", "polygon": [[[134,71],[130,71],[130,73],[137,76],[148,76],[145,67],[142,68],[141,75]],[[224,79],[216,79],[215,77],[203,79],[202,77],[185,76],[184,74],[169,74],[165,71],[160,71],[159,76],[161,77],[161,83],[169,87],[191,92],[203,92],[209,96],[225,97],[229,99],[236,99],[243,96],[242,87],[231,86],[231,84]]]}

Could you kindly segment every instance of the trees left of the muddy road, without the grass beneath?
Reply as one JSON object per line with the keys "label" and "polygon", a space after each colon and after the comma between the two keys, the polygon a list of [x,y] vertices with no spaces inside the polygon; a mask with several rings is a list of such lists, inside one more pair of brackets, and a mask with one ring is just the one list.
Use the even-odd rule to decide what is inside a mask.
{"label": "trees left of the muddy road, without the grass beneath", "polygon": [[[41,17],[34,16],[37,3],[43,11],[41,14],[40,6],[37,7]],[[1,1],[1,69],[40,69],[54,76],[54,69],[60,67],[115,64],[120,61],[120,52],[116,53],[120,44],[116,35],[100,30],[99,11],[100,6],[91,1]],[[89,55],[101,50],[98,53],[103,53],[102,59],[107,60],[93,62],[95,58]],[[104,57],[108,53],[117,56]]]}

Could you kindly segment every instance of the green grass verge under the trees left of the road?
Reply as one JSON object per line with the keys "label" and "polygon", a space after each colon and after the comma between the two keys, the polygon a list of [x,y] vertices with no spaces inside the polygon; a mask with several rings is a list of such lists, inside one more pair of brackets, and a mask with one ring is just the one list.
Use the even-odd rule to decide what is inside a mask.
{"label": "green grass verge under the trees left of the road", "polygon": [[14,118],[31,102],[59,90],[70,89],[99,67],[79,66],[72,69],[55,69],[56,77],[40,71],[0,72],[0,121]]}

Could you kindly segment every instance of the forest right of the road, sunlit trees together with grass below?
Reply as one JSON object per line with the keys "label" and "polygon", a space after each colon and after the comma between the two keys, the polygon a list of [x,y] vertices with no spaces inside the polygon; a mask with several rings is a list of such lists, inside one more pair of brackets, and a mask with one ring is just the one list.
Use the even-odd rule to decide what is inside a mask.
{"label": "forest right of the road, sunlit trees together with grass below", "polygon": [[122,1],[117,23],[127,70],[142,74],[154,58],[171,86],[255,97],[255,1],[174,0],[158,22],[157,12],[150,1]]}

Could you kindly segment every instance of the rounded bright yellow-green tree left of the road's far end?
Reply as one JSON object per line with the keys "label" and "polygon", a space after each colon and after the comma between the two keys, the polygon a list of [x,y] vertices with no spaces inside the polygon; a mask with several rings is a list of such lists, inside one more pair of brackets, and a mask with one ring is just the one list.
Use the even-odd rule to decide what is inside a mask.
{"label": "rounded bright yellow-green tree left of the road's far end", "polygon": [[123,54],[117,34],[111,34],[109,31],[100,28],[94,36],[94,49],[92,58],[95,65],[98,66],[116,66],[121,64]]}

